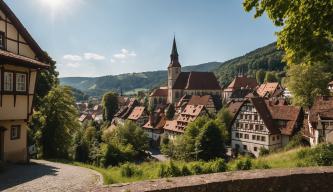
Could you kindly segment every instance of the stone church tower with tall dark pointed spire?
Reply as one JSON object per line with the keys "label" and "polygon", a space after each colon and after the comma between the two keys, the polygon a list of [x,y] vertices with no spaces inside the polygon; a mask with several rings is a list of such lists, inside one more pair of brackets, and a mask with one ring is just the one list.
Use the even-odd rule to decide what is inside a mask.
{"label": "stone church tower with tall dark pointed spire", "polygon": [[172,87],[181,72],[181,65],[179,63],[177,44],[176,44],[175,37],[173,38],[173,45],[172,45],[170,59],[171,59],[171,61],[168,66],[168,90],[169,90],[168,91],[168,102],[173,103],[174,93],[172,91]]}

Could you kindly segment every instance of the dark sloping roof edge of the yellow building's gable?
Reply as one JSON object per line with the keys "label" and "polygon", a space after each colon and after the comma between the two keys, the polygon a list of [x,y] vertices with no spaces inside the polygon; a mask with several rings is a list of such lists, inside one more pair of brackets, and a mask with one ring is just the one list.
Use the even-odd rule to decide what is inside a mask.
{"label": "dark sloping roof edge of the yellow building's gable", "polygon": [[39,45],[32,38],[28,30],[23,26],[21,21],[16,17],[14,12],[8,7],[8,5],[3,0],[0,0],[0,10],[4,12],[4,14],[8,17],[8,19],[12,22],[15,28],[22,35],[24,40],[29,44],[31,49],[35,52],[36,57],[42,61],[46,61],[47,56],[44,53],[44,51],[39,47]]}

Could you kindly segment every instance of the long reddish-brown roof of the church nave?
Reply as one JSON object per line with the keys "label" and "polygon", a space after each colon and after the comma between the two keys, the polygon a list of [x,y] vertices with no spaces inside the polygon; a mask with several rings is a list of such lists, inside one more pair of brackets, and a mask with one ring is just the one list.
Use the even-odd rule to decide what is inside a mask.
{"label": "long reddish-brown roof of the church nave", "polygon": [[217,90],[221,87],[212,72],[181,72],[172,89]]}

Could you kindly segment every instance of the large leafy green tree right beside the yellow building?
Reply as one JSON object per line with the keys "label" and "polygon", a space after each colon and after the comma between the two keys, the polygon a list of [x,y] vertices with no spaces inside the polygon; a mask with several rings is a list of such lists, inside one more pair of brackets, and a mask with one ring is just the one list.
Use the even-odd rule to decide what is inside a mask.
{"label": "large leafy green tree right beside the yellow building", "polygon": [[67,158],[72,135],[80,127],[72,92],[68,87],[56,86],[42,102],[32,121],[41,155],[44,158]]}

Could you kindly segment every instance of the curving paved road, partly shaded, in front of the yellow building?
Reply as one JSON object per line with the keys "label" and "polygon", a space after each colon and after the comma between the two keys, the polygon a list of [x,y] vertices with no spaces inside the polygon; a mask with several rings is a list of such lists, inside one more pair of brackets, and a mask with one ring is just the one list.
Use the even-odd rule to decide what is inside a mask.
{"label": "curving paved road, partly shaded, in front of the yellow building", "polygon": [[0,173],[0,191],[91,191],[101,177],[90,169],[32,160],[29,165],[10,165]]}

